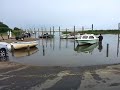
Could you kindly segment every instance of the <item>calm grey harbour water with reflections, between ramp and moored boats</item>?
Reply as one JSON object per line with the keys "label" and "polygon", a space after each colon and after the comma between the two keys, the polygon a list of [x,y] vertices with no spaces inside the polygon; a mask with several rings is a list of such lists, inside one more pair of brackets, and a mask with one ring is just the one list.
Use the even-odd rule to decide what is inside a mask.
{"label": "calm grey harbour water with reflections, between ramp and moored boats", "polygon": [[[54,39],[38,40],[37,48],[16,51],[9,59],[14,62],[40,66],[89,66],[120,63],[117,35],[103,35],[102,44],[78,46],[74,40]],[[107,53],[107,44],[109,50]]]}

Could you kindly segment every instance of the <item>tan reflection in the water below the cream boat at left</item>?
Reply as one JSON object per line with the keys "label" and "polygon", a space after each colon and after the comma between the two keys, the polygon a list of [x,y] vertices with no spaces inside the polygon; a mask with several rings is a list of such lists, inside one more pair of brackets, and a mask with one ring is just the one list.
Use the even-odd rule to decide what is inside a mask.
{"label": "tan reflection in the water below the cream boat at left", "polygon": [[20,50],[14,50],[13,56],[14,57],[25,57],[30,56],[38,51],[37,47],[30,48],[28,51],[27,49],[20,49]]}

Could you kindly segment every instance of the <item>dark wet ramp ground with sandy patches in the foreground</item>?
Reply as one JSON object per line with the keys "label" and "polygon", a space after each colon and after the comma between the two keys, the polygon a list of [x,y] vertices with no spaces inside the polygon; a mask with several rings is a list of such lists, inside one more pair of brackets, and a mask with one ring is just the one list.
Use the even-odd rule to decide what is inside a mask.
{"label": "dark wet ramp ground with sandy patches in the foreground", "polygon": [[120,65],[44,67],[0,62],[0,90],[120,90]]}

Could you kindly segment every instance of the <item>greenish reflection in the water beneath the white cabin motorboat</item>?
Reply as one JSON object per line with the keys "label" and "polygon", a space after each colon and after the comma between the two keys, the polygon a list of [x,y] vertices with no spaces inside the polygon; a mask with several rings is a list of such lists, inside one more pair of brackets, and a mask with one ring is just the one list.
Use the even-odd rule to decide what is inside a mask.
{"label": "greenish reflection in the water beneath the white cabin motorboat", "polygon": [[92,53],[94,48],[96,48],[97,46],[98,46],[97,43],[95,43],[95,44],[87,44],[87,45],[82,45],[82,46],[77,45],[77,47],[74,50],[77,51],[77,53],[80,53],[80,52]]}

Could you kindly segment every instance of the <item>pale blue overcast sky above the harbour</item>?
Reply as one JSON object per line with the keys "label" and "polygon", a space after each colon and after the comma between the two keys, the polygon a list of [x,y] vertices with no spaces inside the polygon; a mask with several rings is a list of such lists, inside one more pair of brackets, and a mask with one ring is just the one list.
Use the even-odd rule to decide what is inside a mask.
{"label": "pale blue overcast sky above the harbour", "polygon": [[120,0],[0,0],[0,21],[10,28],[118,29],[119,9]]}

